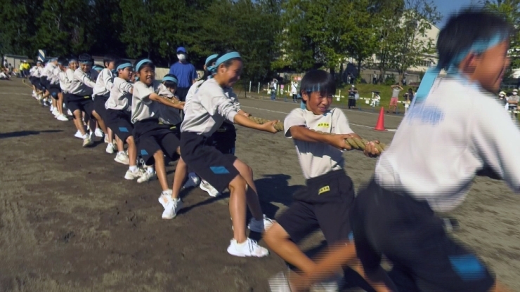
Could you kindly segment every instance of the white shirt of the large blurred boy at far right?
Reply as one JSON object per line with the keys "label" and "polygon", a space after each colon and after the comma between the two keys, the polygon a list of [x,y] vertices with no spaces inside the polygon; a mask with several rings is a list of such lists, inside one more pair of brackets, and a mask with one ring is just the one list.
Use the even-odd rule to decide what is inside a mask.
{"label": "white shirt of the large blurred boy at far right", "polygon": [[438,79],[401,122],[375,179],[435,211],[450,211],[483,168],[520,192],[520,157],[512,155],[518,145],[520,130],[493,95],[461,79]]}

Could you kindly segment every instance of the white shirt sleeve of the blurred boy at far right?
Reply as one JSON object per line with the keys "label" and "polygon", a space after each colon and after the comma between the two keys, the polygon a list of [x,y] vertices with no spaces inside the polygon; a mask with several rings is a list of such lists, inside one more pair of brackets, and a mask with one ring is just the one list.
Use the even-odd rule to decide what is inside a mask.
{"label": "white shirt sleeve of the blurred boy at far right", "polygon": [[472,145],[483,163],[520,192],[520,129],[495,100],[477,100],[472,111]]}

